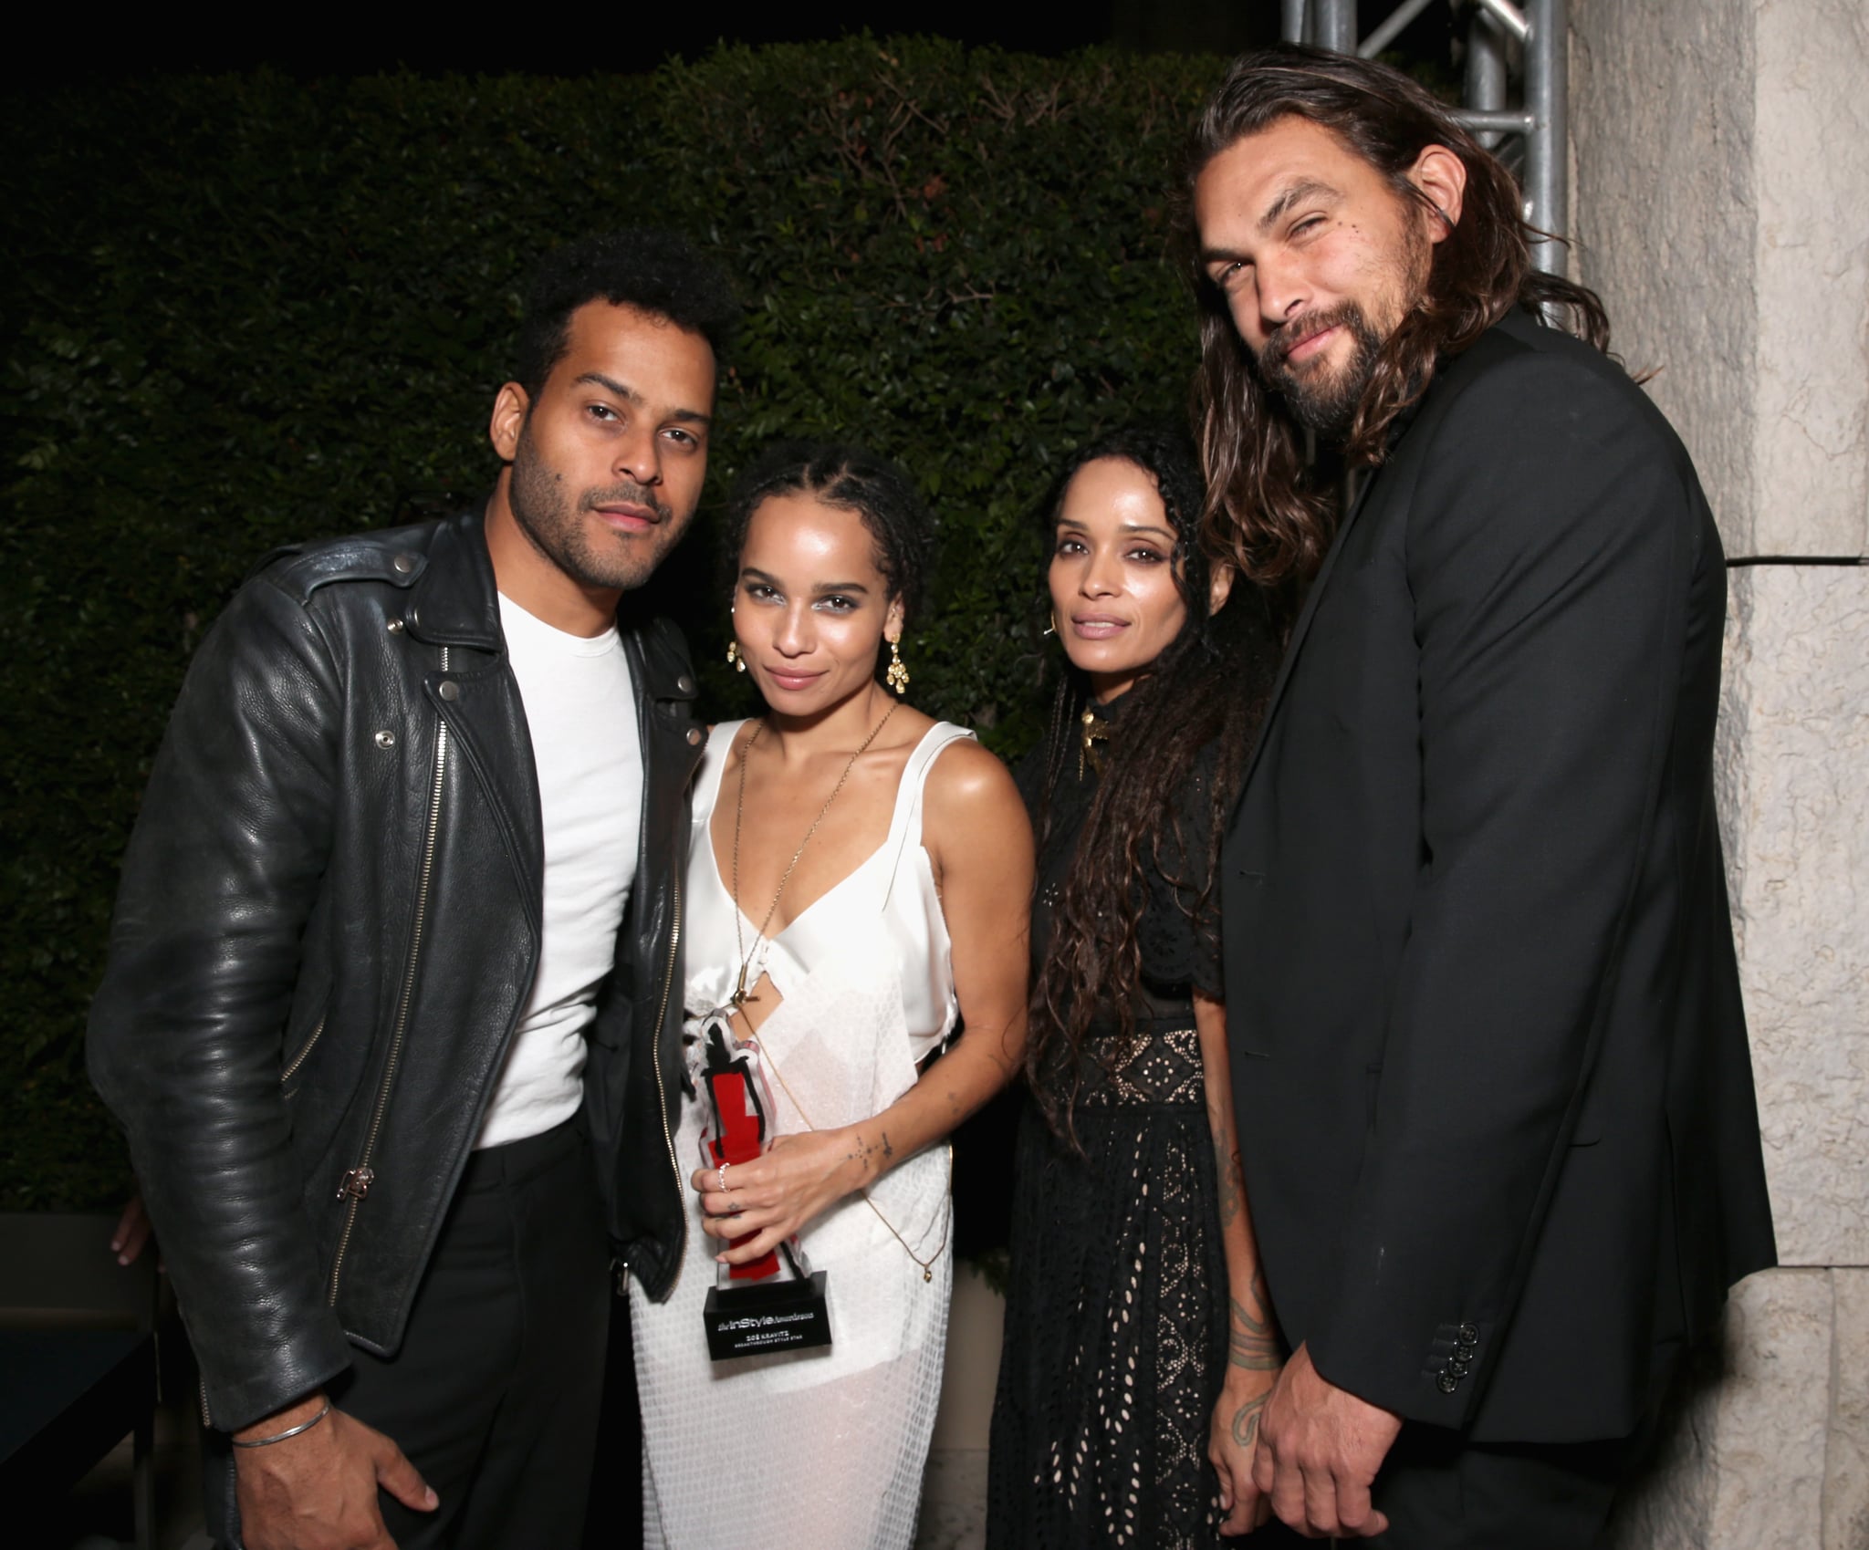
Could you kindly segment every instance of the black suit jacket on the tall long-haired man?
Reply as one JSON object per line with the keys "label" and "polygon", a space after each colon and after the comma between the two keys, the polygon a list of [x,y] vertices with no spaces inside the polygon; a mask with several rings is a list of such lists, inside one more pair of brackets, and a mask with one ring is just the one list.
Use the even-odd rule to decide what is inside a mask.
{"label": "black suit jacket on the tall long-haired man", "polygon": [[1477,1440],[1628,1432],[1774,1261],[1714,814],[1725,564],[1673,430],[1525,314],[1293,631],[1224,855],[1286,1337]]}

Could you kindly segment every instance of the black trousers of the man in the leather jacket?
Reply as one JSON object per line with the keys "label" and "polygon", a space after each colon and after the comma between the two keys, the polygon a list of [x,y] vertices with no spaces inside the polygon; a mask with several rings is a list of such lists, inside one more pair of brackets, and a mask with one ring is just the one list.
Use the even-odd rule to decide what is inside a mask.
{"label": "black trousers of the man in the leather jacket", "polygon": [[475,1152],[402,1348],[364,1350],[331,1399],[385,1432],[441,1505],[378,1494],[400,1550],[576,1546],[609,1322],[609,1246],[576,1122]]}

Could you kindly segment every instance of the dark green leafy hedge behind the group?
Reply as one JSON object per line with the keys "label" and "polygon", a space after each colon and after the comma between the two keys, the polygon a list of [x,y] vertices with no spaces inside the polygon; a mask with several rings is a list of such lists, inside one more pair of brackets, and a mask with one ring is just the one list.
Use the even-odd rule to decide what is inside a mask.
{"label": "dark green leafy hedge behind the group", "polygon": [[[736,276],[710,504],[776,435],[908,465],[944,543],[905,642],[914,698],[1020,753],[1026,515],[1084,437],[1179,411],[1194,332],[1166,168],[1217,71],[852,39],[652,77],[258,75],[0,105],[0,1208],[121,1190],[84,1008],[204,626],[275,543],[488,486],[520,284],[566,237],[677,226]],[[731,715],[706,549],[656,585]]]}

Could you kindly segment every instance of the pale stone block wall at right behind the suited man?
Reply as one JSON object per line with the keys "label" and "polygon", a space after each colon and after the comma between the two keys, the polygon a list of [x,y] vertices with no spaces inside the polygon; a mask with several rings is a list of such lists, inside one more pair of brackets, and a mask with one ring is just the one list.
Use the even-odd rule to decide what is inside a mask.
{"label": "pale stone block wall at right behind the suited man", "polygon": [[1577,252],[1731,571],[1719,805],[1781,1268],[1626,1550],[1869,1546],[1869,9],[1574,0]]}

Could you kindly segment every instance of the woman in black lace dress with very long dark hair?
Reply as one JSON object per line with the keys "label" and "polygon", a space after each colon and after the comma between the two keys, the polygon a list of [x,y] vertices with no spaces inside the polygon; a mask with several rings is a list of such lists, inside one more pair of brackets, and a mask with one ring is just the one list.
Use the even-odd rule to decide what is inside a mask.
{"label": "woman in black lace dress with very long dark hair", "polygon": [[1067,665],[1020,771],[1039,842],[1030,1102],[989,1550],[1213,1546],[1267,1516],[1252,1440],[1282,1358],[1209,878],[1277,642],[1263,599],[1228,599],[1200,553],[1200,510],[1192,448],[1138,430],[1086,448],[1050,514]]}

